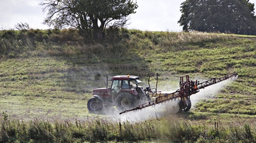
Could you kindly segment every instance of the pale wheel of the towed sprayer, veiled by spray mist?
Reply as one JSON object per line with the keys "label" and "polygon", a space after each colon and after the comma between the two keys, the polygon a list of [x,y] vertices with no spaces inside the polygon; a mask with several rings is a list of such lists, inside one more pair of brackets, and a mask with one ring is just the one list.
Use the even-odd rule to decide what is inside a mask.
{"label": "pale wheel of the towed sprayer, veiled by spray mist", "polygon": [[182,111],[182,105],[179,99],[167,103],[166,111],[168,114],[179,114]]}

